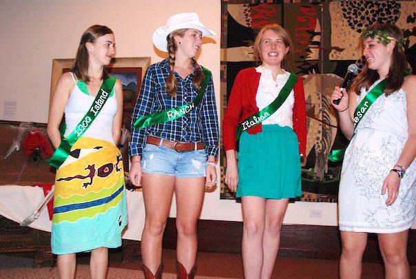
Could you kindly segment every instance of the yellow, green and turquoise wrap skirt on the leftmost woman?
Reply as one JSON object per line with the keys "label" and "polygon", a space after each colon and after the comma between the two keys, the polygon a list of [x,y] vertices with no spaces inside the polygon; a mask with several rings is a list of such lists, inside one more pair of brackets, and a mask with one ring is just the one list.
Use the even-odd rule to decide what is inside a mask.
{"label": "yellow, green and turquoise wrap skirt on the leftmost woman", "polygon": [[81,137],[56,171],[52,253],[120,247],[125,225],[120,151],[108,141]]}

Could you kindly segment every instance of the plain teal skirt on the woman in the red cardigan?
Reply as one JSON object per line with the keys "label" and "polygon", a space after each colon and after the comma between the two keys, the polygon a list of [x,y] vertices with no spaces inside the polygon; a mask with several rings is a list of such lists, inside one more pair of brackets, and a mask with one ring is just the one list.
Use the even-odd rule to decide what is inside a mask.
{"label": "plain teal skirt on the woman in the red cardigan", "polygon": [[262,125],[243,132],[238,152],[237,197],[295,198],[302,195],[298,136],[291,127]]}

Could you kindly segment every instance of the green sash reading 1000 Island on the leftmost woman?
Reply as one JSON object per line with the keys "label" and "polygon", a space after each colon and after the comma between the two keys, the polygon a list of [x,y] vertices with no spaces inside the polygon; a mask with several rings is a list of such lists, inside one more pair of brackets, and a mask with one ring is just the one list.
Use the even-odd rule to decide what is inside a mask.
{"label": "green sash reading 1000 Island on the leftmost woman", "polygon": [[[62,163],[69,156],[72,145],[74,145],[76,141],[78,141],[78,139],[81,138],[84,132],[92,124],[92,121],[95,120],[98,113],[101,112],[101,109],[103,108],[105,102],[107,101],[108,96],[110,96],[110,93],[115,83],[116,83],[116,79],[112,76],[110,76],[108,79],[105,79],[105,81],[103,81],[103,85],[101,85],[100,90],[98,90],[98,94],[95,97],[94,101],[92,102],[90,110],[88,110],[88,112],[81,119],[78,125],[76,125],[75,129],[71,132],[69,136],[67,136],[66,138],[63,138],[63,136],[61,135],[61,138],[63,139],[59,147],[56,148],[52,157],[49,158],[48,160],[49,165],[52,165],[52,167],[56,167],[56,168],[59,168],[62,165]],[[65,125],[61,127],[65,127]],[[65,131],[61,130],[61,133],[62,132],[65,132]]]}

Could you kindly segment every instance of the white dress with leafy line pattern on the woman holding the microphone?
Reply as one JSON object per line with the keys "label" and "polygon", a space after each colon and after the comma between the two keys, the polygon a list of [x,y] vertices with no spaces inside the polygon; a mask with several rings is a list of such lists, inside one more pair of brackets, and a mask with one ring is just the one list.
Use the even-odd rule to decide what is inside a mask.
{"label": "white dress with leafy line pattern on the woman holding the microphone", "polygon": [[[361,90],[357,103],[366,93]],[[393,205],[387,206],[388,193],[381,193],[384,179],[397,163],[407,138],[406,93],[400,89],[390,96],[382,94],[358,124],[345,152],[338,196],[340,230],[386,234],[413,225],[416,160],[406,170]]]}

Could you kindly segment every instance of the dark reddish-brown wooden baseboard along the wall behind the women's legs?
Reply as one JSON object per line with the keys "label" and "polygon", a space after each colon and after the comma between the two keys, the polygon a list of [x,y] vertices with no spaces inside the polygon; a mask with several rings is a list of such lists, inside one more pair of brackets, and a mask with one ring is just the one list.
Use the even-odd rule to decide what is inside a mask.
{"label": "dark reddish-brown wooden baseboard along the wall behind the women's legs", "polygon": [[[169,218],[163,237],[163,247],[176,249],[175,218]],[[200,220],[198,223],[198,251],[213,253],[241,253],[242,223]],[[313,225],[284,225],[279,256],[334,260],[340,258],[341,241],[338,227]],[[410,230],[408,259],[416,265],[416,230]],[[364,262],[382,262],[377,236],[370,234]]]}

